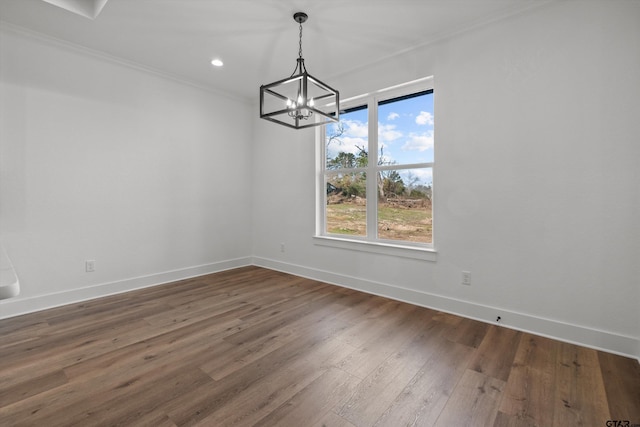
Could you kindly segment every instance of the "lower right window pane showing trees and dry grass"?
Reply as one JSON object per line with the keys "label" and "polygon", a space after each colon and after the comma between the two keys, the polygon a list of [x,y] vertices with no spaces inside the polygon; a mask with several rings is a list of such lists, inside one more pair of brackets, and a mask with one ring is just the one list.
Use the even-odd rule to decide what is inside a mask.
{"label": "lower right window pane showing trees and dry grass", "polygon": [[431,168],[378,172],[378,238],[431,243]]}

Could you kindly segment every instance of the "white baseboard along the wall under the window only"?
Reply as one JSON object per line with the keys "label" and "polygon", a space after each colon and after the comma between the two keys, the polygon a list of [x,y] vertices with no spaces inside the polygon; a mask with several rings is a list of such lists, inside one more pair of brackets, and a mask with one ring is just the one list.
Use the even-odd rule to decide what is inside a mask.
{"label": "white baseboard along the wall under the window only", "polygon": [[[379,295],[485,323],[497,324],[506,328],[529,332],[534,335],[619,354],[621,356],[638,359],[640,362],[640,339],[636,337],[615,334],[580,325],[572,325],[557,320],[504,310],[498,307],[481,305],[272,259],[254,257],[253,264],[259,267],[356,289],[369,294]],[[501,318],[500,322],[496,322],[498,316]]]}

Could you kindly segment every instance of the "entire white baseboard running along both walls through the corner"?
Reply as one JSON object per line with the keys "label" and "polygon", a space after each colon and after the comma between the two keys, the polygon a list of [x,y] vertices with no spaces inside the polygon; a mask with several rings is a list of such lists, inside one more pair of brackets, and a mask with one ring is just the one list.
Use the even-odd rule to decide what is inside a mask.
{"label": "entire white baseboard running along both walls through the corner", "polygon": [[[635,337],[260,257],[237,258],[31,298],[6,299],[0,301],[0,319],[248,265],[295,274],[485,323],[498,324],[506,328],[635,358],[640,362],[640,339]],[[496,322],[497,316],[500,316],[500,322]]]}

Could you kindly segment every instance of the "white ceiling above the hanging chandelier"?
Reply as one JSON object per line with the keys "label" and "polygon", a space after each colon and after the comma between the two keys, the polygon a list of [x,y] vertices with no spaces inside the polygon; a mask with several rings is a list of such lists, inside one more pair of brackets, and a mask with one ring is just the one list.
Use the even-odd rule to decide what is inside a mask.
{"label": "white ceiling above the hanging chandelier", "polygon": [[[295,68],[297,11],[309,15],[302,43],[307,69],[331,84],[344,73],[547,1],[0,0],[0,21],[255,98],[261,84]],[[214,57],[224,67],[211,66]]]}

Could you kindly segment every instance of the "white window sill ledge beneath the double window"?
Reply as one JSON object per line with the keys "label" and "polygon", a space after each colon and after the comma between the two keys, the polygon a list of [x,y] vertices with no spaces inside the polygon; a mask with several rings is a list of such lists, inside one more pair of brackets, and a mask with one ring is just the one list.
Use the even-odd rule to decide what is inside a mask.
{"label": "white window sill ledge beneath the double window", "polygon": [[329,246],[333,248],[347,249],[359,252],[370,252],[375,254],[411,258],[421,261],[435,262],[437,252],[432,248],[412,247],[394,245],[390,243],[367,242],[364,240],[352,240],[339,237],[314,236],[314,244],[318,246]]}

